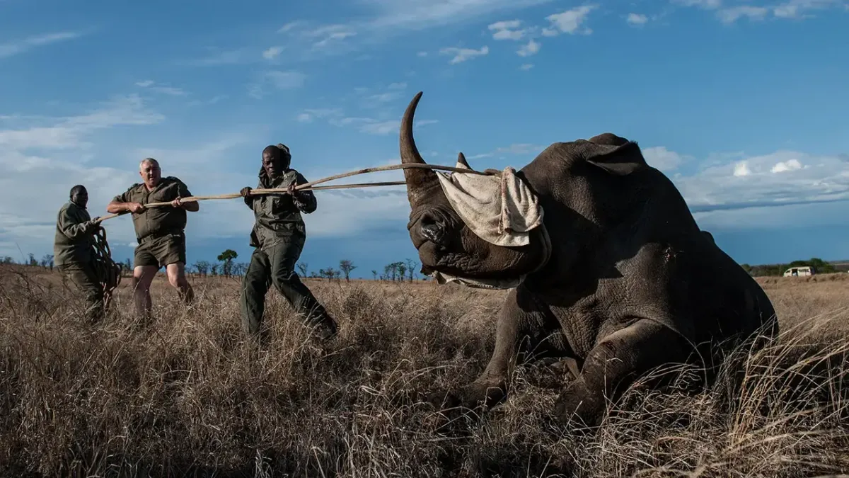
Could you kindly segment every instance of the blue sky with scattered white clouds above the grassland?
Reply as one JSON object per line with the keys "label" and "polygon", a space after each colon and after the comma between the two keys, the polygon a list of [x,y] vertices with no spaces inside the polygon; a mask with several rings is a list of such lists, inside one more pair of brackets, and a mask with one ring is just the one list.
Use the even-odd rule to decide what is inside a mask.
{"label": "blue sky with scattered white clouds above the grassland", "polygon": [[[278,142],[307,179],[398,162],[421,90],[429,162],[520,168],[610,131],[739,262],[849,259],[847,20],[837,0],[0,0],[0,255],[51,253],[70,186],[104,215],[145,156],[197,195],[256,186]],[[416,257],[403,188],[316,194],[310,270]],[[247,261],[252,221],[202,202],[189,263]],[[104,225],[130,256],[132,222]]]}

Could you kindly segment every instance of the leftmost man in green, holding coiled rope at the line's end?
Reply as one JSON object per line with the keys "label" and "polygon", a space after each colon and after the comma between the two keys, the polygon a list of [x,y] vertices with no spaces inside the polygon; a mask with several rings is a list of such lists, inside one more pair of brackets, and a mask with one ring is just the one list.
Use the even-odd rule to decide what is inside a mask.
{"label": "leftmost man in green, holding coiled rope at the line's end", "polygon": [[94,323],[103,318],[104,287],[94,268],[94,234],[100,228],[86,208],[88,191],[83,185],[70,188],[70,201],[59,208],[53,260],[59,272],[73,282],[85,296],[86,317]]}

